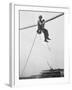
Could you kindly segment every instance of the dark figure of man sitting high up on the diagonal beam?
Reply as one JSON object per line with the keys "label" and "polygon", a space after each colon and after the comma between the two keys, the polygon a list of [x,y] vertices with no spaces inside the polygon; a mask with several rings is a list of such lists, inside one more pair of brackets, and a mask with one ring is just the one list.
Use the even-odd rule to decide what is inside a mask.
{"label": "dark figure of man sitting high up on the diagonal beam", "polygon": [[42,16],[40,15],[39,16],[39,20],[38,20],[38,30],[37,30],[37,33],[41,34],[41,32],[43,32],[44,33],[45,42],[48,42],[47,40],[51,40],[51,39],[49,38],[48,30],[46,30],[44,28],[44,26],[45,26],[45,20],[44,19],[42,20]]}

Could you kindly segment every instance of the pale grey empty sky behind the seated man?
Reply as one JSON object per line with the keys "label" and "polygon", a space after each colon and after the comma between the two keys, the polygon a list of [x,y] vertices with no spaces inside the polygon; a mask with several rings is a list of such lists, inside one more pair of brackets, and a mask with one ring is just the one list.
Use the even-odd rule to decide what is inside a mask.
{"label": "pale grey empty sky behind the seated man", "polygon": [[[48,20],[60,13],[39,12],[39,11],[20,11],[20,28],[35,25],[39,15]],[[50,69],[49,65],[56,68],[64,68],[64,15],[45,24],[51,40],[44,42],[44,34],[37,34],[34,47],[27,61],[32,47],[37,27],[20,30],[20,77],[28,77],[40,74],[42,70]],[[49,63],[49,64],[48,64]]]}

